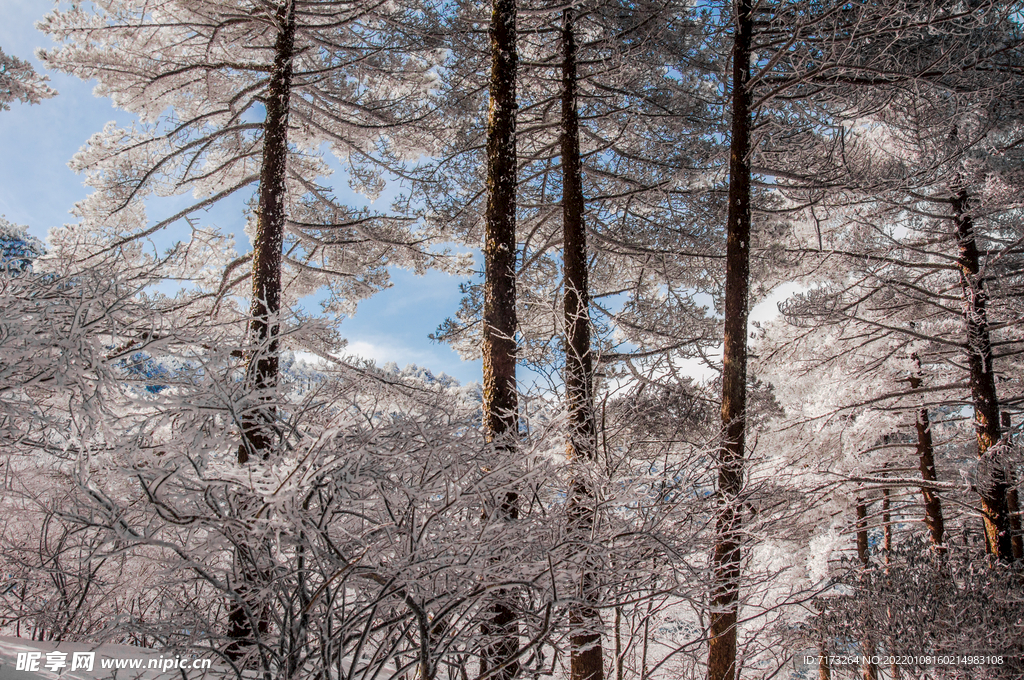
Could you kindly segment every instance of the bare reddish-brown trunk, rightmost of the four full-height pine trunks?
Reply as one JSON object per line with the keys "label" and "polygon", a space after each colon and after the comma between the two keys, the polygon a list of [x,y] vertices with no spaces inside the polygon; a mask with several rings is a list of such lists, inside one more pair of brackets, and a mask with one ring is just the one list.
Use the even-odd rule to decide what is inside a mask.
{"label": "bare reddish-brown trunk, rightmost of the four full-height pine trunks", "polygon": [[725,270],[725,335],[722,356],[722,427],[718,516],[712,557],[714,585],[708,639],[708,680],[736,678],[739,608],[740,514],[746,436],[746,317],[751,250],[751,47],[753,0],[737,0],[732,47],[732,138]]}

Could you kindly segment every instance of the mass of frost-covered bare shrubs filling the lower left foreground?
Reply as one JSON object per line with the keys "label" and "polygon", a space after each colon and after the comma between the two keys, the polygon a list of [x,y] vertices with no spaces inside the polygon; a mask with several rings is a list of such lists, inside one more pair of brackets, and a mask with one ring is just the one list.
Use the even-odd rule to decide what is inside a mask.
{"label": "mass of frost-covered bare shrubs filling the lower left foreground", "polygon": [[[284,336],[302,351],[284,357],[278,405],[287,453],[240,466],[238,311],[198,283],[152,291],[193,258],[124,248],[83,266],[67,233],[2,282],[8,632],[229,666],[224,620],[241,600],[257,633],[240,668],[315,675],[357,660],[430,675],[475,663],[488,593],[515,588],[524,664],[558,666],[564,593],[583,567],[564,518],[581,471],[565,465],[556,406],[535,402],[520,456],[504,459],[473,389],[331,359],[314,325],[294,320]],[[219,245],[189,255],[219,266]],[[703,474],[688,458],[699,438],[652,440],[649,462],[627,438],[606,444],[609,467],[584,473],[601,490],[589,554],[609,602],[696,601],[707,498],[687,479]],[[499,521],[513,487],[527,502]],[[652,615],[645,606],[627,617]]]}

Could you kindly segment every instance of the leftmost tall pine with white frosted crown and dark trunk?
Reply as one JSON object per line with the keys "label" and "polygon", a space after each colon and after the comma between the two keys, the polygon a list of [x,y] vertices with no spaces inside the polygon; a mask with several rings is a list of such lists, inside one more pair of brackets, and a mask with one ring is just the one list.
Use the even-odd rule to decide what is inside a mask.
{"label": "leftmost tall pine with white frosted crown and dark trunk", "polygon": [[[72,5],[41,24],[61,44],[42,52],[48,65],[95,78],[97,93],[140,117],[130,129],[108,126],[73,164],[95,189],[76,212],[105,235],[97,250],[184,223],[232,195],[252,197],[253,251],[225,267],[218,291],[236,294],[251,280],[242,461],[267,456],[279,438],[261,405],[278,381],[283,288],[295,299],[326,286],[329,308],[350,312],[387,285],[388,265],[438,261],[407,222],[348,208],[318,181],[330,174],[322,145],[342,160],[366,154],[430,86],[417,12],[327,0],[125,0]],[[147,221],[148,197],[185,193],[194,200],[183,208]]]}

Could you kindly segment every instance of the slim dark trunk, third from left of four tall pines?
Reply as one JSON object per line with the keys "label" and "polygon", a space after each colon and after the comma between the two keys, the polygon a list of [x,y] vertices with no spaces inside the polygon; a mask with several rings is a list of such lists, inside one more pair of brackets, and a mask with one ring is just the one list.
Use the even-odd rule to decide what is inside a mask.
{"label": "slim dark trunk, third from left of four tall pines", "polygon": [[[594,417],[594,368],[590,348],[590,292],[587,283],[587,228],[584,223],[583,164],[580,159],[580,119],[577,111],[577,45],[572,10],[562,14],[562,262],[564,266],[565,400],[569,429],[566,458],[592,463],[597,458]],[[569,678],[603,680],[601,615],[597,578],[590,565],[587,544],[594,528],[594,490],[585,474],[571,482],[568,499],[569,533],[573,548],[584,557],[577,597],[569,606]]]}

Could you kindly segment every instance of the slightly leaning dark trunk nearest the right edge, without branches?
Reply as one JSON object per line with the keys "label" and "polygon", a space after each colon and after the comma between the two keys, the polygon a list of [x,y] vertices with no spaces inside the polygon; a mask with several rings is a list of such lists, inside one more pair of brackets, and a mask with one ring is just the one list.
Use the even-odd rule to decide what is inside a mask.
{"label": "slightly leaning dark trunk nearest the right edge, without branches", "polygon": [[998,451],[993,451],[993,447],[998,443],[1000,433],[995,368],[992,366],[992,343],[985,310],[988,296],[979,266],[968,193],[962,189],[951,199],[951,204],[953,223],[956,225],[956,266],[964,297],[974,426],[978,436],[978,492],[989,549],[997,559],[1009,562],[1013,559],[1010,513],[1007,509],[1009,484],[1002,461],[994,460],[992,456]]}

